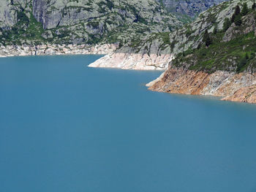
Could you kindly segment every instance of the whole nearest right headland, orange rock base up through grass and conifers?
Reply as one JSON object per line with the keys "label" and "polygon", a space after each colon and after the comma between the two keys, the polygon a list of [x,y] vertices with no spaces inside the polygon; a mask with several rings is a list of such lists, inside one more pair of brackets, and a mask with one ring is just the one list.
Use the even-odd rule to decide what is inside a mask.
{"label": "whole nearest right headland, orange rock base up through grass and conifers", "polygon": [[[195,32],[187,36],[193,43],[187,43],[190,46],[186,51],[178,53],[166,72],[148,84],[150,89],[255,103],[256,9],[242,8],[246,5],[250,8],[252,4],[249,0],[234,0],[214,7],[219,10],[214,22],[211,25],[206,22],[197,39],[193,36]],[[235,11],[239,9],[237,6],[241,12]],[[212,11],[200,15],[200,20],[211,20]]]}

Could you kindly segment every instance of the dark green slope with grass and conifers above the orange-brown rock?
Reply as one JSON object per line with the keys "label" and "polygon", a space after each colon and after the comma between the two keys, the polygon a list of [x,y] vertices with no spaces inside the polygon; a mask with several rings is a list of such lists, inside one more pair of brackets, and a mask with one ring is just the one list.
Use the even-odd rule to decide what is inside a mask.
{"label": "dark green slope with grass and conifers above the orange-brown rock", "polygon": [[223,30],[206,32],[202,45],[179,53],[172,64],[210,73],[255,72],[256,36],[252,27],[255,24],[255,5],[249,9],[243,4],[241,11],[237,6],[231,20],[225,19]]}

